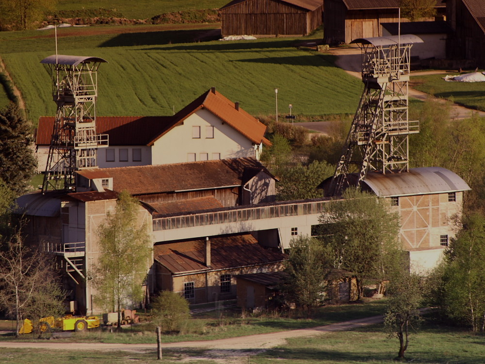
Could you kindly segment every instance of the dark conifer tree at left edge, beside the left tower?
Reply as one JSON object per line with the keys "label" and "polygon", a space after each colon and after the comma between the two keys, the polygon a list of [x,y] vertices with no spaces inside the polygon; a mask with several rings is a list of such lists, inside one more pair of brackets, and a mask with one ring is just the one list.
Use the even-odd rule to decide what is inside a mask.
{"label": "dark conifer tree at left edge, beside the left tower", "polygon": [[32,127],[14,103],[0,110],[0,135],[0,180],[19,196],[26,190],[36,161]]}

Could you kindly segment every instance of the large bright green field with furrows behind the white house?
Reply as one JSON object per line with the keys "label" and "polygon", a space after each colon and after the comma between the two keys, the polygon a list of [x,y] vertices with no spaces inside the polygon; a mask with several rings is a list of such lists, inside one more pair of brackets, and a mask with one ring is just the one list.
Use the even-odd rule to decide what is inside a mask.
{"label": "large bright green field with furrows behind the white house", "polygon": [[[275,114],[275,88],[283,114],[289,104],[303,115],[352,114],[358,104],[361,82],[335,67],[333,56],[295,47],[301,39],[175,44],[194,30],[110,34],[116,29],[62,30],[59,39],[60,54],[109,62],[98,72],[100,116],[171,115],[213,86],[255,116]],[[55,113],[49,72],[39,63],[54,53],[51,36],[0,34],[0,54],[34,124]]]}

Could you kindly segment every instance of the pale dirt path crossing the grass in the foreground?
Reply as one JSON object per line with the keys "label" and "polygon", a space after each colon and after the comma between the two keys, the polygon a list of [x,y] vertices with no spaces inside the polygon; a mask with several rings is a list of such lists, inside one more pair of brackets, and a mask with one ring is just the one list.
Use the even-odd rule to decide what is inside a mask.
{"label": "pale dirt path crossing the grass in the foreground", "polygon": [[[211,341],[186,341],[179,343],[162,344],[162,348],[200,348],[208,350],[264,350],[284,345],[286,339],[291,337],[314,336],[335,331],[352,330],[355,328],[372,325],[382,322],[382,316],[373,316],[365,319],[339,322],[326,326],[319,326],[310,329],[281,331],[271,334],[249,335],[242,337],[231,337]],[[156,350],[156,344],[102,344],[102,343],[60,343],[55,341],[41,341],[36,343],[0,341],[0,348],[16,349],[57,349],[57,350],[121,350],[121,351],[151,351]],[[253,352],[253,354],[257,353]],[[259,351],[260,352],[260,351]],[[213,356],[213,352],[210,355]],[[234,353],[234,356],[241,356]]]}

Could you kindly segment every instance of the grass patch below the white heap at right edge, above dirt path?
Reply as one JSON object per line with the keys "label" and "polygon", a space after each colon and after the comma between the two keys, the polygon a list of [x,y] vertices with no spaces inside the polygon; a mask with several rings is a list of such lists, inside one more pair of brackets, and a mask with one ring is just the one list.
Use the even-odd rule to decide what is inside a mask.
{"label": "grass patch below the white heap at right edge, above dirt path", "polygon": [[443,76],[414,76],[411,77],[411,84],[416,90],[485,111],[485,82],[446,82]]}

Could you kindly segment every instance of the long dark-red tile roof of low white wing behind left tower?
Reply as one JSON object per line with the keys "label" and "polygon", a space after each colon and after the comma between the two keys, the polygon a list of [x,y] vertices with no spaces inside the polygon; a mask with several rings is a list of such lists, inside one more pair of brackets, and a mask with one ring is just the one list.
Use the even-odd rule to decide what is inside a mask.
{"label": "long dark-red tile roof of low white wing behind left tower", "polygon": [[[50,145],[54,117],[42,116],[35,143]],[[98,116],[97,134],[108,134],[110,145],[147,145],[154,135],[170,127],[173,116]]]}

